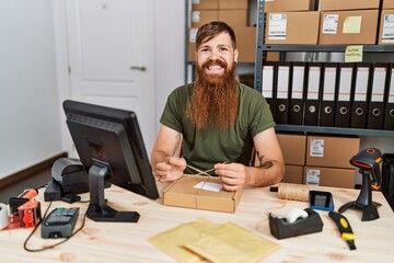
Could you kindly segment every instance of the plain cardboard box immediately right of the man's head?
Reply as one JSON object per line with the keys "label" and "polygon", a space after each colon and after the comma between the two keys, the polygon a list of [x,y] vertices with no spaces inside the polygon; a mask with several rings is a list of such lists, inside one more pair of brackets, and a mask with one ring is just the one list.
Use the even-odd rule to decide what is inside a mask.
{"label": "plain cardboard box immediately right of the man's head", "polygon": [[256,50],[256,27],[234,26],[236,46],[240,52],[239,62],[254,62]]}

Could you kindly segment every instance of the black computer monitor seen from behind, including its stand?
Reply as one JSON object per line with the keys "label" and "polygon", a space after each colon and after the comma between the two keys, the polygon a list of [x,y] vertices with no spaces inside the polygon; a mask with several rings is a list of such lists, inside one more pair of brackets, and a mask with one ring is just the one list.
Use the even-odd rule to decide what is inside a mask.
{"label": "black computer monitor seen from behind, including its stand", "polygon": [[86,216],[95,221],[137,222],[137,211],[117,211],[104,197],[105,182],[159,197],[136,113],[71,100],[63,102],[63,110],[79,158],[89,171]]}

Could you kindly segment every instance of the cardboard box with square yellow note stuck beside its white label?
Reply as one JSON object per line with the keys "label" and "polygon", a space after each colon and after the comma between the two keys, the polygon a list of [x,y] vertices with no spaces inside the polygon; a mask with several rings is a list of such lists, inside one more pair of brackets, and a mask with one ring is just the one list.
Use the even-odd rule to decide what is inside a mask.
{"label": "cardboard box with square yellow note stuck beside its white label", "polygon": [[321,13],[318,44],[375,44],[378,10]]}

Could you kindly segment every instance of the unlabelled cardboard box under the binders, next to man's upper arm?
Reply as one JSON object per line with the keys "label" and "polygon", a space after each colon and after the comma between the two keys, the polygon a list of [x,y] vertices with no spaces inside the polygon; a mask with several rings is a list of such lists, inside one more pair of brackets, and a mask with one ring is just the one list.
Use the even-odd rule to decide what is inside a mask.
{"label": "unlabelled cardboard box under the binders, next to man's upper arm", "polygon": [[280,149],[282,150],[286,164],[305,164],[305,135],[277,134],[277,138],[280,145]]}

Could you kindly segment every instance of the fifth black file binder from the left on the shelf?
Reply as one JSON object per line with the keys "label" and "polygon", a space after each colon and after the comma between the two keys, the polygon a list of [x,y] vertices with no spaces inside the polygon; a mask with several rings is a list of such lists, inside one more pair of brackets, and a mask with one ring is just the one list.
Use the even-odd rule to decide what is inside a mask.
{"label": "fifth black file binder from the left on the shelf", "polygon": [[320,103],[320,126],[334,127],[335,91],[337,85],[338,64],[326,62],[322,68],[322,87]]}

